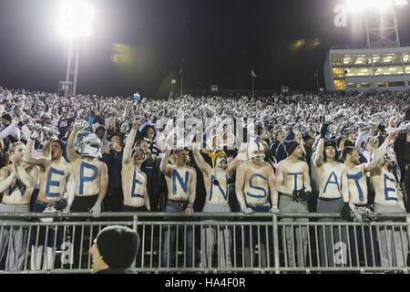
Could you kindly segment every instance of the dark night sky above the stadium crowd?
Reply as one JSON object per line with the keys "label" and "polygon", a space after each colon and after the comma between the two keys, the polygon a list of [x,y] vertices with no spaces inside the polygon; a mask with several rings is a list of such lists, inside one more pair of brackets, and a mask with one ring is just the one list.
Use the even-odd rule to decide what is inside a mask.
{"label": "dark night sky above the stadium crowd", "polygon": [[[95,21],[81,45],[77,93],[83,94],[168,96],[182,65],[185,89],[251,89],[254,68],[255,89],[311,90],[315,68],[323,87],[330,47],[365,45],[364,29],[333,26],[334,5],[343,0],[88,2]],[[58,3],[0,0],[0,86],[55,92],[66,78]],[[409,6],[397,12],[402,44],[410,43]],[[295,49],[299,39],[305,46]],[[119,63],[113,62],[116,47],[131,52]]]}

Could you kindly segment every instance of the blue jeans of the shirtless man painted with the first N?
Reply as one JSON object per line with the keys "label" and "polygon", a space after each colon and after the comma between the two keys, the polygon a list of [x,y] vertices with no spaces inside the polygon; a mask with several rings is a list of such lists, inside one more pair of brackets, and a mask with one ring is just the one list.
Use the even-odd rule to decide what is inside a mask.
{"label": "blue jeans of the shirtless man painted with the first N", "polygon": [[[180,213],[186,209],[185,206],[175,206],[172,203],[167,203],[167,206],[165,207],[165,212],[168,213]],[[186,216],[183,214],[183,216]],[[170,221],[188,221],[188,217],[181,217],[181,218],[176,218],[176,217],[165,217],[165,220],[170,220]],[[185,233],[186,230],[186,233]],[[175,239],[177,235],[177,226],[176,225],[164,225],[163,226],[163,237],[162,237],[162,256],[161,256],[161,267],[173,267],[172,263],[172,258],[171,254],[175,252]],[[182,243],[184,246],[184,252],[186,253],[186,261],[185,261],[185,266],[186,267],[191,267],[192,265],[192,260],[193,260],[193,232],[192,232],[192,227],[191,226],[178,226],[178,231],[179,234],[182,234]],[[186,235],[186,237],[185,237]],[[180,241],[179,241],[180,242]],[[177,255],[176,255],[177,256]]]}

